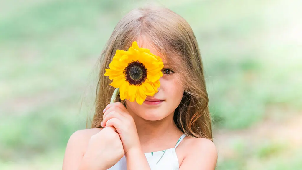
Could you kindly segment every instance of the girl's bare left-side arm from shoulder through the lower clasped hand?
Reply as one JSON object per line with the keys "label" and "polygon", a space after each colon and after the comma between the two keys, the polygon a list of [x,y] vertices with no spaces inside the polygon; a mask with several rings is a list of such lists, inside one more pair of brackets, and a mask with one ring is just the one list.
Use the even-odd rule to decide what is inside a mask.
{"label": "girl's bare left-side arm from shoulder through the lower clasped hand", "polygon": [[70,137],[63,170],[105,170],[124,156],[120,136],[113,127],[78,130]]}

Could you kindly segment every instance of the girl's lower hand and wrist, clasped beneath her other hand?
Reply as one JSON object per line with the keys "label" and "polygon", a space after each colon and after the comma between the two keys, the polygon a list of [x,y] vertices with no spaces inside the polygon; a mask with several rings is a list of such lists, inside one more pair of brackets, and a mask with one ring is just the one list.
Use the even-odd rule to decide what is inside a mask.
{"label": "girl's lower hand and wrist, clasped beneath her other hand", "polygon": [[113,127],[105,127],[90,138],[79,169],[105,170],[115,165],[124,154],[118,133]]}

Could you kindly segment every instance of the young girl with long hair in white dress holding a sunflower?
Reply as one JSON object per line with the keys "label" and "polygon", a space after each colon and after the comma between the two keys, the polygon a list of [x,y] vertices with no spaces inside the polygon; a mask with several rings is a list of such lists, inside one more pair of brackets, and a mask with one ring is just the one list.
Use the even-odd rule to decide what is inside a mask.
{"label": "young girl with long hair in white dress holding a sunflower", "polygon": [[[110,103],[112,77],[104,74],[116,51],[127,51],[131,44],[162,59],[160,86],[142,103],[122,91]],[[185,19],[161,7],[130,11],[101,55],[92,128],[72,134],[63,170],[215,169],[217,150],[203,72],[198,43]],[[120,89],[131,88],[126,85]],[[128,90],[138,95],[136,89]]]}

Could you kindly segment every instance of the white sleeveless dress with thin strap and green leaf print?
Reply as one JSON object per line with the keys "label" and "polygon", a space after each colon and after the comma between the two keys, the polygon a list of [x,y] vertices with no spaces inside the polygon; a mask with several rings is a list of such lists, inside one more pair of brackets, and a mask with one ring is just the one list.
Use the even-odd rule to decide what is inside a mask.
{"label": "white sleeveless dress with thin strap and green leaf print", "polygon": [[[175,149],[185,136],[185,134],[180,136],[174,148],[145,153],[151,170],[178,170],[179,163]],[[122,157],[119,162],[108,170],[127,170],[126,157]]]}

